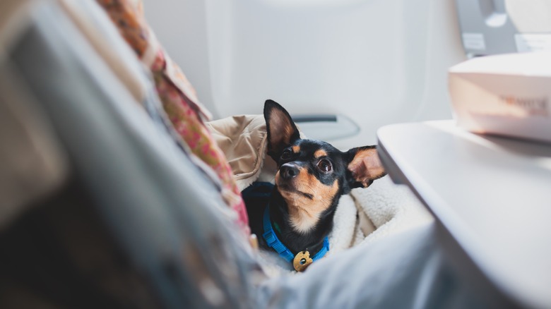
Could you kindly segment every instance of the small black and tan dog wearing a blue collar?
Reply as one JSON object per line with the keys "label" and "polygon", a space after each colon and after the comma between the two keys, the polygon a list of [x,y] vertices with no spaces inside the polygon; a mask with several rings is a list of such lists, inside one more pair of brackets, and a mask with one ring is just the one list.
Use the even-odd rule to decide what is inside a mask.
{"label": "small black and tan dog wearing a blue collar", "polygon": [[[367,188],[385,171],[375,146],[341,152],[319,140],[301,139],[288,111],[272,100],[264,104],[264,118],[268,155],[278,172],[275,186],[244,190],[249,225],[261,248],[275,250],[302,271],[329,250],[327,235],[340,196]],[[262,191],[266,194],[258,194]]]}

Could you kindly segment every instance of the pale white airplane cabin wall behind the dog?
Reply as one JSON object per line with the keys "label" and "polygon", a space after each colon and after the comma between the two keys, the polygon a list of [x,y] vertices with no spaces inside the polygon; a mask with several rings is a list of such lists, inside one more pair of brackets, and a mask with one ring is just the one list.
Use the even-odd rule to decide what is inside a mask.
{"label": "pale white airplane cabin wall behind the dog", "polygon": [[144,0],[160,42],[216,117],[344,114],[347,149],[388,123],[449,119],[447,68],[466,59],[454,0]]}

